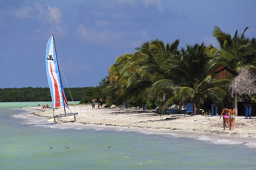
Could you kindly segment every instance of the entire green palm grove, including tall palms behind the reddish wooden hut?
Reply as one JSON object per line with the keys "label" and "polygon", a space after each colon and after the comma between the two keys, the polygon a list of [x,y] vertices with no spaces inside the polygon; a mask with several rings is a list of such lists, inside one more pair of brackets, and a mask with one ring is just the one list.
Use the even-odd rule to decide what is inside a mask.
{"label": "entire green palm grove, including tall palms behind the reddish wooden hut", "polygon": [[[134,53],[116,58],[109,68],[110,85],[104,89],[107,105],[128,102],[150,109],[165,108],[193,100],[194,114],[199,113],[201,101],[210,97],[217,103],[227,98],[232,77],[217,79],[214,71],[222,66],[239,71],[248,64],[256,64],[255,38],[241,35],[233,38],[215,26],[213,37],[220,49],[204,43],[178,49],[179,40],[164,44],[161,40],[144,42]],[[164,110],[164,109],[162,109]]]}

